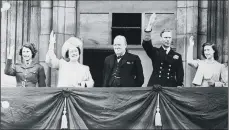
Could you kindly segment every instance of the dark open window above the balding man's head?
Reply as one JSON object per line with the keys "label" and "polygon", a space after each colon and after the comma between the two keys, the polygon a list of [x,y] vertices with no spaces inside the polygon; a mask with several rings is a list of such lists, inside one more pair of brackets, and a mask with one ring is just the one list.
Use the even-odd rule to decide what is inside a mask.
{"label": "dark open window above the balding man's head", "polygon": [[128,45],[141,45],[141,21],[141,13],[113,13],[112,44],[117,35],[123,35]]}

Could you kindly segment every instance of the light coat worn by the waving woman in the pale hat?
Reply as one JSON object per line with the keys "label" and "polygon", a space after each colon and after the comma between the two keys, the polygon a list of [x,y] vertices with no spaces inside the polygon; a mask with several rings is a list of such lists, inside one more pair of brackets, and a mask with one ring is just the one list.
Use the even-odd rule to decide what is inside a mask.
{"label": "light coat worn by the waving woman in the pale hat", "polygon": [[46,63],[51,68],[59,69],[57,87],[93,87],[94,85],[89,67],[86,65],[59,60],[53,50],[47,52]]}

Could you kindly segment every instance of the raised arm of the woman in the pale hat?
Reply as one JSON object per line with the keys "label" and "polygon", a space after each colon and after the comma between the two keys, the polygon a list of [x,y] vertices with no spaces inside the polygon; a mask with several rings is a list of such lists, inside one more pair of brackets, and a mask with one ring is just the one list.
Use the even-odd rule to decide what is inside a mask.
{"label": "raised arm of the woman in the pale hat", "polygon": [[52,31],[50,34],[49,50],[46,53],[46,58],[45,58],[45,62],[51,68],[59,68],[59,59],[56,57],[54,53],[55,43],[56,43],[56,35]]}

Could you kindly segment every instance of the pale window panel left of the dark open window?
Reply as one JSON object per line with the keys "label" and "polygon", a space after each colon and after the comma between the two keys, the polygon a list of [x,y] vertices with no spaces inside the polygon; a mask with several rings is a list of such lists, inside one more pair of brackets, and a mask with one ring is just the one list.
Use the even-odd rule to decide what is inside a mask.
{"label": "pale window panel left of the dark open window", "polygon": [[107,45],[110,35],[108,23],[108,13],[81,13],[79,30],[84,45]]}

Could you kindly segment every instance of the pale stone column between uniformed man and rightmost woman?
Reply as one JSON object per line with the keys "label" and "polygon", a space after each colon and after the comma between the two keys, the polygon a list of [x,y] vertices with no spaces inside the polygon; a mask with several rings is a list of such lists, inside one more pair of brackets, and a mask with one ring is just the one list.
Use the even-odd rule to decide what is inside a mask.
{"label": "pale stone column between uniformed man and rightmost woman", "polygon": [[[197,37],[198,1],[177,1],[177,52],[182,55],[185,71],[184,86],[192,86],[195,69],[187,64],[187,47],[189,37]],[[196,40],[196,39],[195,39]],[[195,41],[195,43],[197,43]],[[194,47],[194,59],[197,58],[197,45]]]}

